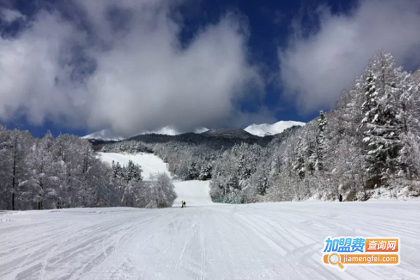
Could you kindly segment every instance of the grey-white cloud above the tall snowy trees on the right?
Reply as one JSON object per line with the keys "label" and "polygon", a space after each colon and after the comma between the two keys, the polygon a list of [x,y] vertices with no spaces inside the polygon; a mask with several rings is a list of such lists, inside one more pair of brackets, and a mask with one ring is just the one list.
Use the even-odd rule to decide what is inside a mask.
{"label": "grey-white cloud above the tall snowy trees on the right", "polygon": [[[333,106],[379,50],[420,64],[420,2],[365,0],[348,15],[319,14],[320,29],[279,50],[281,81],[302,113]],[[299,34],[299,32],[297,32]]]}

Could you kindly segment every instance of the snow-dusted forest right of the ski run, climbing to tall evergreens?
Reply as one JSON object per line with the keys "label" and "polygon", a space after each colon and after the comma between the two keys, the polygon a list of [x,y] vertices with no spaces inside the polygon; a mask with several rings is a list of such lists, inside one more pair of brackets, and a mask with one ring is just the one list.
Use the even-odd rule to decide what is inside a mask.
{"label": "snow-dusted forest right of the ski run, climbing to tall evergreens", "polygon": [[147,147],[181,179],[211,179],[215,202],[419,196],[419,84],[419,72],[404,71],[379,50],[335,109],[267,145],[123,141],[108,148],[135,153]]}

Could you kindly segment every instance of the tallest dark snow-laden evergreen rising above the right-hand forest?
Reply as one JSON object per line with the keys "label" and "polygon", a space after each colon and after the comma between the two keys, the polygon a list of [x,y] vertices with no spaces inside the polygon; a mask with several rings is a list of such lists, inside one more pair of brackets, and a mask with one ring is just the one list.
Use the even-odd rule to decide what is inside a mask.
{"label": "tallest dark snow-laden evergreen rising above the right-hand forest", "polygon": [[391,55],[379,52],[370,65],[366,81],[365,118],[366,144],[365,160],[371,186],[388,185],[389,179],[398,167],[400,139],[398,132],[398,107],[395,97],[398,90],[398,70]]}

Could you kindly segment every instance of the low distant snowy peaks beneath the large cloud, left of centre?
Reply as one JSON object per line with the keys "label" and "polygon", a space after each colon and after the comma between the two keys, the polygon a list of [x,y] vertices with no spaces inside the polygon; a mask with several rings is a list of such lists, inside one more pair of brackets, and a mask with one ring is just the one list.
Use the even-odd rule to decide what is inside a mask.
{"label": "low distant snowy peaks beneath the large cloud, left of centre", "polygon": [[[202,133],[202,132],[207,132],[206,127],[199,127],[197,129],[195,129],[195,133]],[[162,127],[158,130],[145,130],[143,132],[139,132],[137,134],[131,135],[130,137],[134,137],[137,135],[141,135],[141,134],[163,134],[163,135],[179,135],[182,134],[183,132],[179,132],[178,130],[176,130],[175,127],[172,127],[170,125],[167,125],[166,127]],[[120,134],[117,134],[115,132],[113,132],[112,130],[101,130],[99,132],[94,132],[92,134],[88,134],[85,135],[84,137],[82,137],[83,139],[96,139],[96,140],[104,140],[104,141],[121,141],[130,137],[122,137]]]}

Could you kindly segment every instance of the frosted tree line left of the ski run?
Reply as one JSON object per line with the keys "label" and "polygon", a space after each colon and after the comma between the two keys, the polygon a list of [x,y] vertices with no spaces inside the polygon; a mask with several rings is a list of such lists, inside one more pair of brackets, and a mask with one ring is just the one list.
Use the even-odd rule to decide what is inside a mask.
{"label": "frosted tree line left of the ski run", "polygon": [[50,132],[35,139],[3,126],[0,178],[0,209],[169,207],[176,198],[165,174],[144,182],[141,167],[132,162],[109,166],[84,139],[69,134],[54,138]]}

